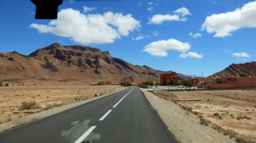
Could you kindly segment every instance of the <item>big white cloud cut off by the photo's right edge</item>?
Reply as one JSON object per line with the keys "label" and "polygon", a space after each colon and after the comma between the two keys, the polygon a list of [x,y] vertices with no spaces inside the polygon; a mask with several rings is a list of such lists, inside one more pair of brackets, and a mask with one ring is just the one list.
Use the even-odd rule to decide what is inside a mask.
{"label": "big white cloud cut off by the photo's right edge", "polygon": [[231,32],[244,27],[256,27],[256,1],[245,4],[241,9],[232,12],[212,14],[207,16],[201,30],[211,34],[216,33],[214,37],[231,36]]}

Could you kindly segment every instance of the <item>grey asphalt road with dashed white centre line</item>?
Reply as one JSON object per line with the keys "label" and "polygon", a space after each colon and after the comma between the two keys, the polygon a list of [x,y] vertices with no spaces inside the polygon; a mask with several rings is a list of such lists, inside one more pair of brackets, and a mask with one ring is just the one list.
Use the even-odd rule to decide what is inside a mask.
{"label": "grey asphalt road with dashed white centre line", "polygon": [[0,133],[0,142],[178,142],[138,88]]}

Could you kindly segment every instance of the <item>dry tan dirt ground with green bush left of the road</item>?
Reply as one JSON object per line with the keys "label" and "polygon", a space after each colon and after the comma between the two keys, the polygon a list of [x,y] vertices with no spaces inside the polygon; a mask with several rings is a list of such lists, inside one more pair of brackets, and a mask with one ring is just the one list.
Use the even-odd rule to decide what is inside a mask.
{"label": "dry tan dirt ground with green bush left of the road", "polygon": [[[49,105],[67,105],[123,89],[120,85],[57,85],[0,87],[0,124],[44,111]],[[40,108],[20,109],[22,102],[36,102]]]}

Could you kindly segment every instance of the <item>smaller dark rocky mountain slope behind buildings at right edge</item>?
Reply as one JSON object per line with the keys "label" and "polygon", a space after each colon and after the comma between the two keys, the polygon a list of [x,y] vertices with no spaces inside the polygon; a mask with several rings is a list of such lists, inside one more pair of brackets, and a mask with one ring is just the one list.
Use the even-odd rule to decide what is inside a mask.
{"label": "smaller dark rocky mountain slope behind buildings at right edge", "polygon": [[244,64],[232,64],[225,68],[224,70],[215,73],[212,76],[228,76],[228,75],[238,75],[240,73],[247,73],[251,76],[256,75],[256,62],[248,62]]}

